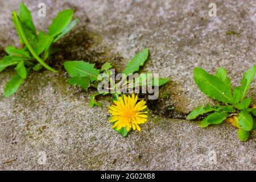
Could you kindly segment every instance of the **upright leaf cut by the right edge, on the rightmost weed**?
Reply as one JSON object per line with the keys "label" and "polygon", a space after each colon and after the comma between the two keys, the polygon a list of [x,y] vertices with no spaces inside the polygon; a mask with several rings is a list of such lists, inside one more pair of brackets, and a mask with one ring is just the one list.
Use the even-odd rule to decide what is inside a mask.
{"label": "upright leaf cut by the right edge, on the rightmost weed", "polygon": [[239,98],[239,101],[242,101],[245,98],[247,90],[250,88],[251,82],[253,81],[253,78],[255,76],[255,72],[256,66],[254,65],[253,67],[248,69],[245,74],[243,74],[240,86],[241,97]]}

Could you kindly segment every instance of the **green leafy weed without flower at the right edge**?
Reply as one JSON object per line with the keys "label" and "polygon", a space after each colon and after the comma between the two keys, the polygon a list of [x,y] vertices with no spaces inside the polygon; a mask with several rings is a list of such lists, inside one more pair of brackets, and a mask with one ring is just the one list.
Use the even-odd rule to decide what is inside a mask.
{"label": "green leafy weed without flower at the right edge", "polygon": [[201,92],[208,97],[220,101],[216,106],[201,105],[194,109],[187,119],[195,119],[199,115],[210,113],[201,121],[200,127],[216,125],[223,121],[230,122],[238,128],[237,136],[245,142],[250,137],[250,131],[255,129],[256,107],[250,107],[251,98],[246,93],[253,82],[256,66],[248,69],[241,80],[241,85],[232,90],[231,81],[224,68],[218,68],[215,75],[210,75],[202,68],[194,69],[194,80]]}

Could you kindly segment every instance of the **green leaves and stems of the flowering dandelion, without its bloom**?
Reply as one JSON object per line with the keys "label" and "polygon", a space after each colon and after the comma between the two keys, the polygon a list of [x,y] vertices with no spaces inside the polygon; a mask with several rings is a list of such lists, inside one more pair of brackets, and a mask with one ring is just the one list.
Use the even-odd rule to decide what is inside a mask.
{"label": "green leaves and stems of the flowering dandelion, without its bloom", "polygon": [[[126,80],[126,77],[133,74],[134,72],[139,71],[139,67],[141,67],[145,61],[148,59],[148,49],[145,48],[142,51],[138,52],[137,55],[127,63],[125,69],[123,70],[123,77]],[[94,64],[91,64],[86,61],[78,60],[78,61],[65,61],[64,68],[68,72],[70,78],[67,80],[71,85],[80,86],[84,90],[88,90],[89,87],[98,88],[100,82],[104,81],[105,78],[108,78],[108,82],[106,84],[112,85],[106,91],[98,91],[90,97],[90,106],[94,105],[100,106],[100,103],[96,101],[96,96],[98,95],[106,95],[112,93],[115,100],[122,94],[125,89],[133,89],[136,86],[147,86],[147,82],[141,81],[141,77],[136,78],[135,81],[138,80],[139,85],[133,84],[133,82],[124,81],[122,84],[125,85],[122,89],[120,86],[122,81],[115,81],[112,79],[115,77],[115,73],[112,71],[112,65],[109,62],[105,62],[101,69],[96,69]],[[146,80],[151,80],[152,86],[162,86],[168,82],[167,78],[154,78],[152,73],[146,73]],[[121,89],[117,89],[117,88]]]}

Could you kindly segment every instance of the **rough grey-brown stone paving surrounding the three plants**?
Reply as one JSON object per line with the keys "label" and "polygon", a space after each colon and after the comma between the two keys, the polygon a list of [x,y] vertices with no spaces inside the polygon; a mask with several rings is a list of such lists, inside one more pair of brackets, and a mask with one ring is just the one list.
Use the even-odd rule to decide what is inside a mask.
{"label": "rough grey-brown stone paving surrounding the three plants", "polygon": [[[216,1],[217,17],[208,16],[207,1],[44,1],[45,18],[37,16],[42,1],[24,2],[39,29],[46,30],[49,20],[67,8],[75,9],[81,22],[51,59],[58,74],[32,73],[10,98],[3,97],[3,88],[14,72],[0,74],[0,169],[256,169],[255,131],[242,143],[226,123],[201,129],[199,122],[165,119],[151,111],[141,132],[121,137],[110,129],[108,98],[91,109],[93,90],[69,86],[62,67],[70,59],[108,60],[121,71],[147,46],[151,56],[142,71],[170,78],[162,90],[171,94],[167,105],[189,113],[209,101],[193,82],[193,67],[211,73],[225,67],[233,85],[239,85],[242,73],[255,64],[255,1]],[[11,12],[20,1],[0,3],[3,56],[5,46],[18,46]],[[226,35],[229,31],[240,35]],[[254,81],[253,104],[255,88]]]}

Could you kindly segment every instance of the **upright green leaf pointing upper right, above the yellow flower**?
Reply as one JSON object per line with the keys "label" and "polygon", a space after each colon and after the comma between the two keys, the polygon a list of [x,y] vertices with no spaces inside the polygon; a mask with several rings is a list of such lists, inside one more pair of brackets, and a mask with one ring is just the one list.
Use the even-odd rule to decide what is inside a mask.
{"label": "upright green leaf pointing upper right, above the yellow flower", "polygon": [[123,70],[123,73],[125,73],[126,76],[128,76],[130,73],[134,73],[139,71],[139,67],[144,64],[144,62],[147,60],[148,57],[148,48],[143,49],[143,51],[137,53],[131,59],[129,63],[127,63],[125,69]]}

